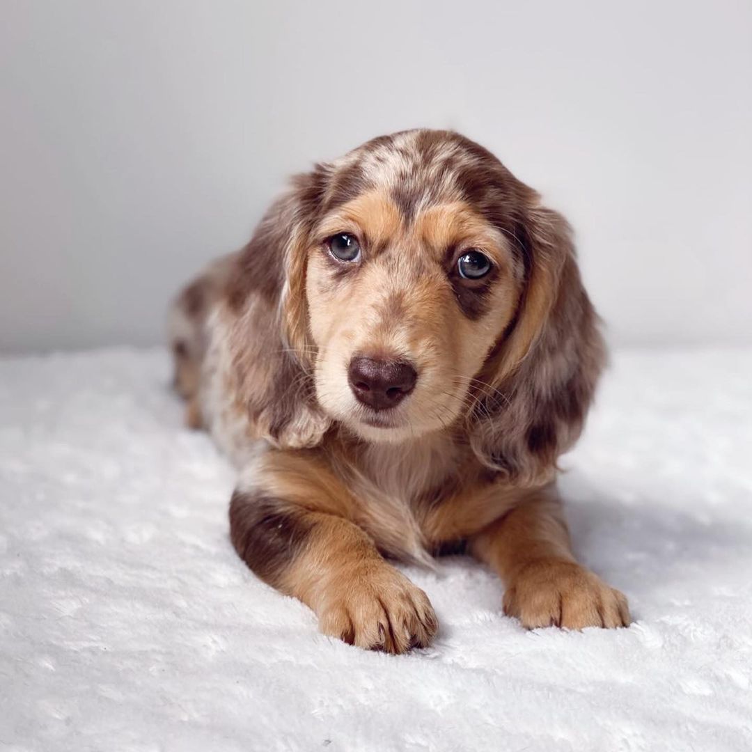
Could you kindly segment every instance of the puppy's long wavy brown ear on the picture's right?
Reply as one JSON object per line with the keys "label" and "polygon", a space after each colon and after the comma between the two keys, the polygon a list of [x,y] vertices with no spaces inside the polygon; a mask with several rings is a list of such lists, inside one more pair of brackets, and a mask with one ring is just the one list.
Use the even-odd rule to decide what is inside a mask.
{"label": "puppy's long wavy brown ear on the picture's right", "polygon": [[576,441],[605,362],[572,231],[534,203],[520,223],[526,286],[511,331],[487,362],[469,438],[484,464],[520,484],[549,478]]}

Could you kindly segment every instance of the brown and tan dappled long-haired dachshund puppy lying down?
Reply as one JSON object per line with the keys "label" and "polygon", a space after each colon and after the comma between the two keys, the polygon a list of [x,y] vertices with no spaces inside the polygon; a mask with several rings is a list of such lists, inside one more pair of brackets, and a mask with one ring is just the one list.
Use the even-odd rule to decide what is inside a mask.
{"label": "brown and tan dappled long-haired dachshund puppy lying down", "polygon": [[605,358],[566,221],[453,132],[382,136],[297,176],[171,312],[188,422],[241,470],[250,569],[352,644],[438,623],[389,560],[462,546],[529,628],[629,624],[578,564],[556,458]]}

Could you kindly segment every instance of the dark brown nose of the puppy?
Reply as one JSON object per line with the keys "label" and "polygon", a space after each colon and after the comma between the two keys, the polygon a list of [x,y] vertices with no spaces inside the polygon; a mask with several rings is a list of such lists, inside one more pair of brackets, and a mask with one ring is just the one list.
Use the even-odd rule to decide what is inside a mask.
{"label": "dark brown nose of the puppy", "polygon": [[404,360],[382,360],[356,355],[347,369],[350,389],[359,402],[374,410],[393,408],[411,393],[418,374]]}

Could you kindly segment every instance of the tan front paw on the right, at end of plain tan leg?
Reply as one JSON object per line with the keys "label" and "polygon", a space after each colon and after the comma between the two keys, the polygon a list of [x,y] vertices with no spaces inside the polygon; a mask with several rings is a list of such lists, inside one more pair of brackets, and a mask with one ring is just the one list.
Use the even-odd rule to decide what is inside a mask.
{"label": "tan front paw on the right, at end of plain tan leg", "polygon": [[523,626],[629,626],[623,593],[608,587],[575,562],[537,561],[526,565],[504,594],[504,612]]}

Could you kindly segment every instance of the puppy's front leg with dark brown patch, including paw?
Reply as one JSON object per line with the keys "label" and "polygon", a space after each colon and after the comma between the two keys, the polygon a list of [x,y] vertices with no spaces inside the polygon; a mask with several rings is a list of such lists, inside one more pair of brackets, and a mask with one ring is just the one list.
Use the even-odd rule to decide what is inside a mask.
{"label": "puppy's front leg with dark brown patch, including paw", "polygon": [[319,629],[359,647],[425,647],[438,623],[426,593],[347,519],[347,490],[305,452],[270,451],[230,502],[230,535],[262,580],[317,614]]}

